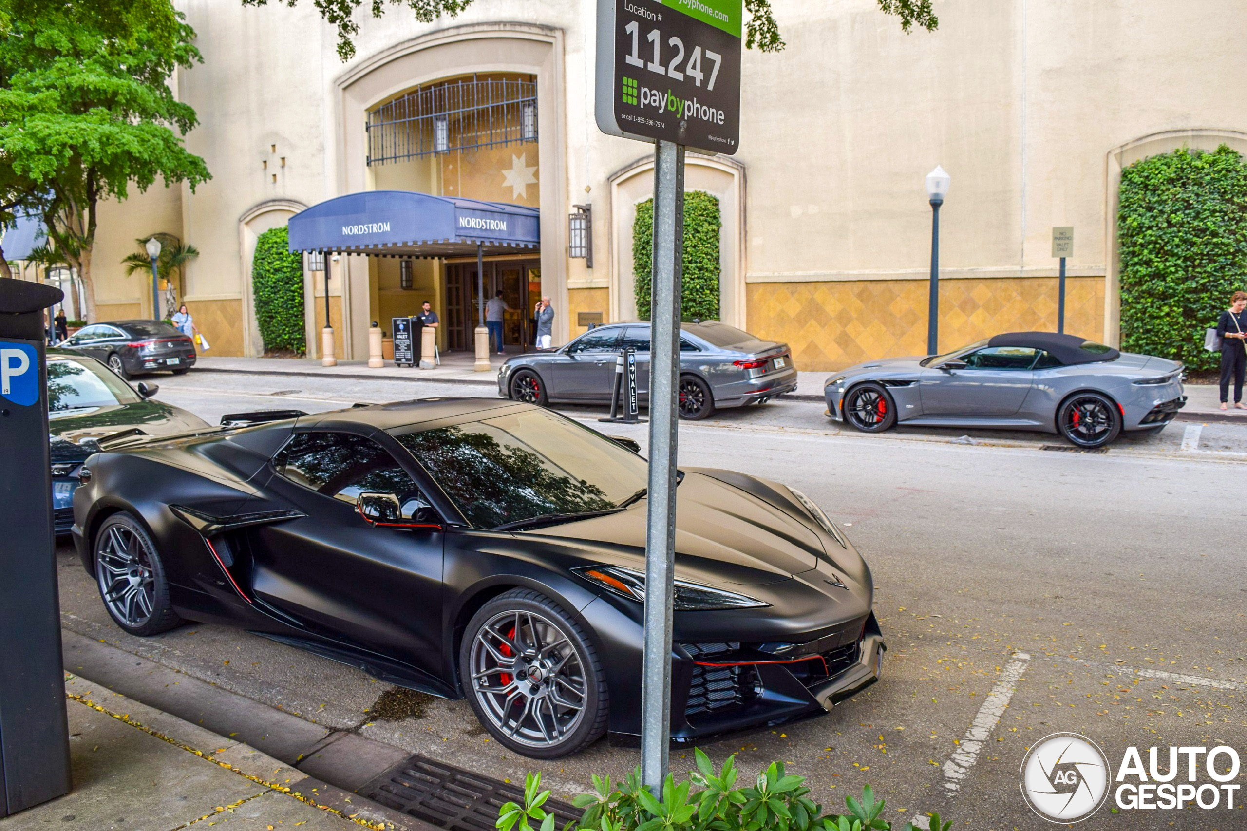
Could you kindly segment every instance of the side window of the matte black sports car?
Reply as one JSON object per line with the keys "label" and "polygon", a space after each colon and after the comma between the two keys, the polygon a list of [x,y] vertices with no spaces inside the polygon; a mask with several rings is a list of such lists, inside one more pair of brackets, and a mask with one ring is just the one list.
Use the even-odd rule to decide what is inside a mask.
{"label": "side window of the matte black sports car", "polygon": [[273,467],[296,484],[352,505],[359,494],[377,492],[394,494],[404,519],[428,519],[433,512],[394,457],[363,435],[298,433],[273,457]]}

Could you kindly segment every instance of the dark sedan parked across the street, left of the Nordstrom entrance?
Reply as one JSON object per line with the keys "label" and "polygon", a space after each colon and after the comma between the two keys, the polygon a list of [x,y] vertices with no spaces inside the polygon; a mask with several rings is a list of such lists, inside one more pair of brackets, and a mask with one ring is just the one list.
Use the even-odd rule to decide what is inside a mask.
{"label": "dark sedan parked across the street, left of the Nordstrom entrance", "polygon": [[163,321],[112,321],[75,332],[61,348],[90,356],[122,378],[195,366],[195,341]]}

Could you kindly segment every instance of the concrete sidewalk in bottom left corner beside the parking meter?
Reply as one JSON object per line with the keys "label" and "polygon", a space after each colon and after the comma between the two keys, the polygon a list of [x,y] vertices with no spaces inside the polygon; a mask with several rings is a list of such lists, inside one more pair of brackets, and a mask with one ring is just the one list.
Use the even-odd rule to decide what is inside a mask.
{"label": "concrete sidewalk in bottom left corner beside the parking meter", "polygon": [[[0,830],[303,829],[393,824],[364,802],[232,739],[66,673],[74,790]],[[424,826],[428,829],[428,826]]]}

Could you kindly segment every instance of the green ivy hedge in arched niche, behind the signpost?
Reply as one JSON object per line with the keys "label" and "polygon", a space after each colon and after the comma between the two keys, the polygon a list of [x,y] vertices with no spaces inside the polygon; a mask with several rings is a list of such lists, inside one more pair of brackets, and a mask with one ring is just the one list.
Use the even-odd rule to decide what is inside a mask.
{"label": "green ivy hedge in arched niche, behind the signpost", "polygon": [[[718,198],[706,191],[685,193],[685,261],[681,288],[681,319],[718,319],[718,238],[723,222]],[[650,319],[650,282],[653,258],[653,200],[636,206],[632,221],[632,275],[636,314]]]}

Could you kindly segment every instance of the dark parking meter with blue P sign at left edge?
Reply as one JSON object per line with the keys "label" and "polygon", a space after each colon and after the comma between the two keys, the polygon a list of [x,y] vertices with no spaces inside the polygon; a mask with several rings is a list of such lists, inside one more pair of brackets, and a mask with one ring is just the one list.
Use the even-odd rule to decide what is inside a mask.
{"label": "dark parking meter with blue P sign at left edge", "polygon": [[0,278],[0,817],[70,790],[44,359],[62,297]]}

